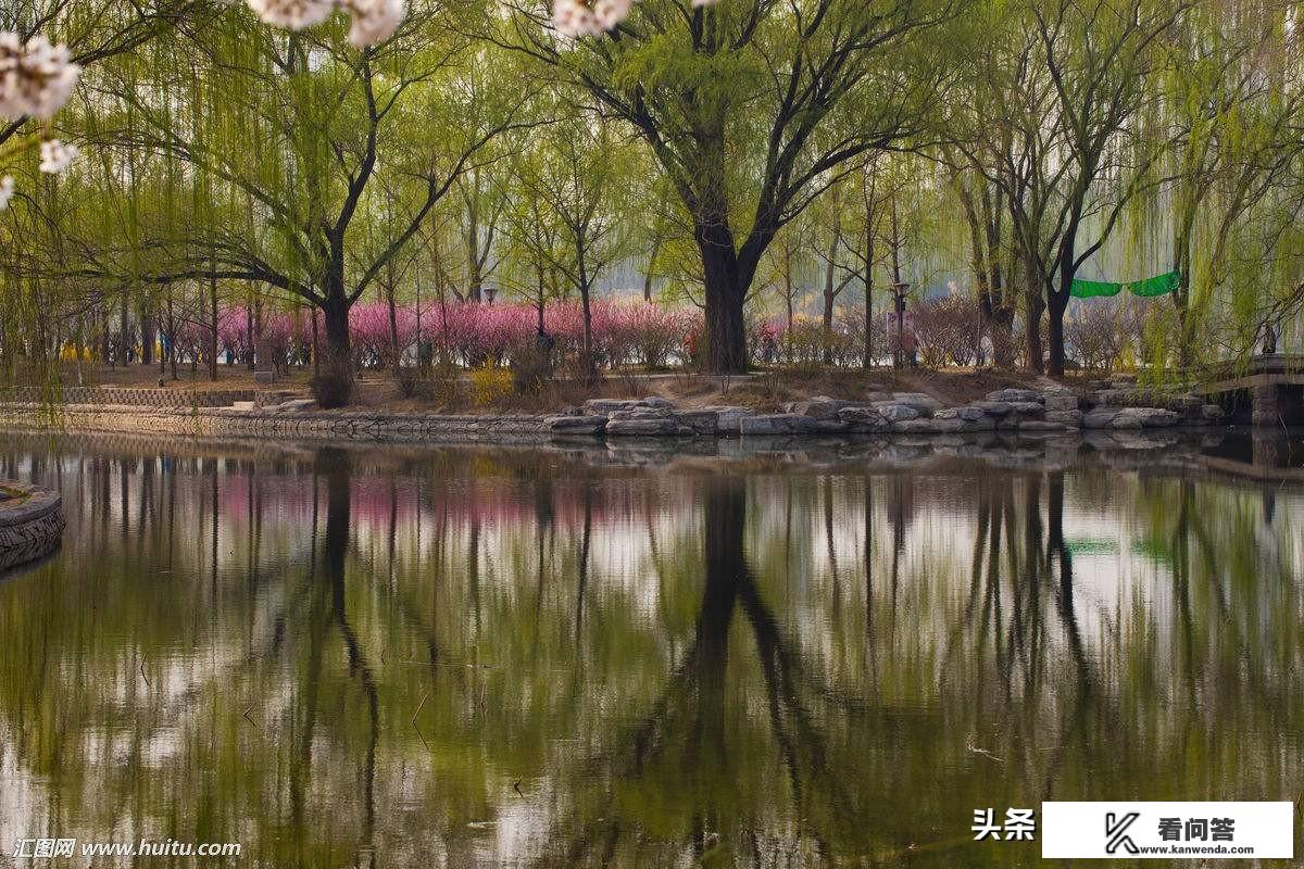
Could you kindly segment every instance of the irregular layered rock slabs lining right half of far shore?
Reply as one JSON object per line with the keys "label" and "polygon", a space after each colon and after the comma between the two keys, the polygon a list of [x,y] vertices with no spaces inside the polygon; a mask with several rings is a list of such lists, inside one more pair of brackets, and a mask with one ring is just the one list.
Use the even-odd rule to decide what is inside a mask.
{"label": "irregular layered rock slabs lining right half of far shore", "polygon": [[758,413],[735,405],[681,409],[660,397],[592,399],[583,408],[548,417],[545,422],[548,430],[558,435],[746,438],[1164,429],[1223,421],[1222,409],[1215,405],[1196,404],[1179,412],[1121,403],[1106,404],[1101,396],[1084,399],[1065,387],[1041,391],[998,390],[981,401],[949,408],[917,392],[871,393],[859,401],[815,396],[788,404],[782,410]]}

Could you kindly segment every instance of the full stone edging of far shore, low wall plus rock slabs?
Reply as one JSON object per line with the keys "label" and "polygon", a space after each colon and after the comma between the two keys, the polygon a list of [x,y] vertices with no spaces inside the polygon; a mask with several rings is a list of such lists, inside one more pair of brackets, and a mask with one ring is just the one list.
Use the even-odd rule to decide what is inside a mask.
{"label": "full stone edging of far shore, low wall plus rock slabs", "polygon": [[[1099,395],[1099,393],[1098,393]],[[828,435],[948,435],[1170,429],[1226,422],[1222,408],[1102,404],[1065,387],[998,390],[979,401],[945,406],[914,392],[871,393],[852,401],[815,396],[763,413],[741,405],[678,408],[662,397],[591,399],[557,414],[451,416],[383,410],[318,410],[310,399],[278,404],[140,406],[108,404],[0,405],[0,426],[42,431],[99,431],[200,438],[373,440],[399,443],[520,443],[576,436],[747,438]]]}

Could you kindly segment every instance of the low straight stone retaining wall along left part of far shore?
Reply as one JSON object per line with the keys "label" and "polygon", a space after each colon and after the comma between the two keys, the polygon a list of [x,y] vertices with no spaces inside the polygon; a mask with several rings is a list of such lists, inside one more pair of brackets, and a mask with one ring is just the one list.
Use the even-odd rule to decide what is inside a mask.
{"label": "low straight stone retaining wall along left part of far shore", "polygon": [[278,413],[275,409],[0,405],[0,426],[40,431],[111,431],[183,438],[276,438],[383,443],[526,440],[549,435],[544,417],[458,417],[368,410]]}

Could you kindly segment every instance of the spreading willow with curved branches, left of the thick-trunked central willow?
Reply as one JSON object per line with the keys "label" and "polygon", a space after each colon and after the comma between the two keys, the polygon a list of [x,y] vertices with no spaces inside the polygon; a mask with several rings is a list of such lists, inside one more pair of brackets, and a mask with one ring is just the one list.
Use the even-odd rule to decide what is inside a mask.
{"label": "spreading willow with curved branches, left of the thick-trunked central willow", "polygon": [[518,122],[510,72],[472,74],[484,59],[449,14],[412,4],[393,38],[357,50],[339,22],[287,34],[232,9],[184,27],[185,60],[145,86],[106,85],[130,116],[112,145],[190,165],[249,216],[154,240],[171,264],[145,279],[253,281],[305,301],[347,371],[352,305]]}

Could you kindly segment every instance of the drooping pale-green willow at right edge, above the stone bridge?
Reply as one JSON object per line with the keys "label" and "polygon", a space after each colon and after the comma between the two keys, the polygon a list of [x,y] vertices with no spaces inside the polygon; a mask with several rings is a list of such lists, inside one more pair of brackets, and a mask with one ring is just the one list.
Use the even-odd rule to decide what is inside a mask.
{"label": "drooping pale-green willow at right edge, above the stone bridge", "polygon": [[[1174,63],[1163,76],[1172,98],[1151,120],[1153,134],[1166,143],[1164,186],[1146,203],[1146,216],[1171,225],[1183,365],[1215,349],[1210,331],[1228,324],[1228,318],[1213,323],[1209,317],[1227,301],[1219,291],[1234,272],[1228,248],[1265,249],[1267,255],[1254,263],[1254,294],[1262,293],[1274,261],[1290,248],[1277,227],[1295,221],[1294,178],[1304,154],[1297,134],[1304,113],[1301,47],[1292,16],[1288,5],[1202,3],[1183,18],[1174,40]],[[1278,205],[1288,215],[1284,220],[1271,216]],[[1271,241],[1247,238],[1247,223]],[[1252,328],[1264,326],[1253,322]],[[1236,343],[1247,349],[1252,340]]]}

